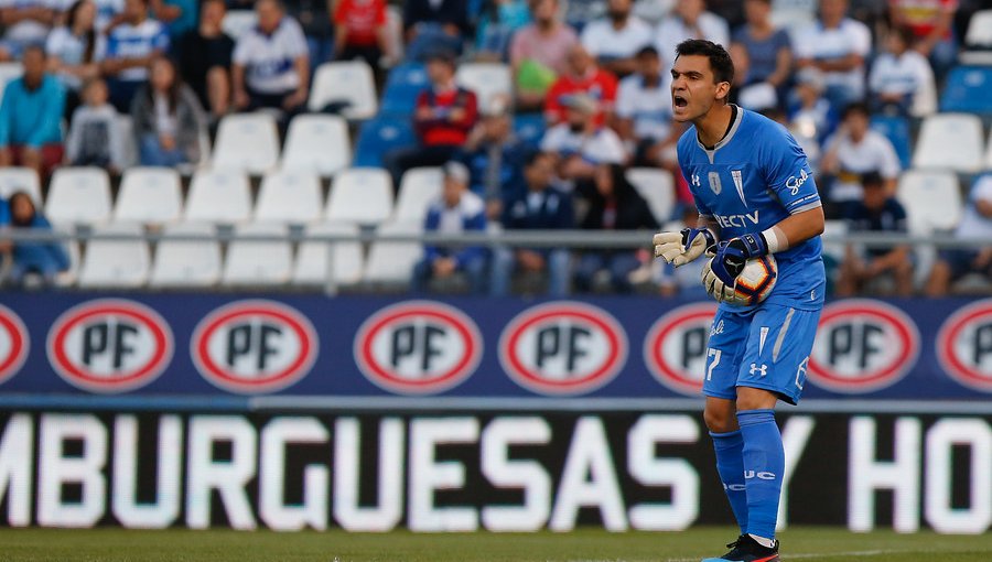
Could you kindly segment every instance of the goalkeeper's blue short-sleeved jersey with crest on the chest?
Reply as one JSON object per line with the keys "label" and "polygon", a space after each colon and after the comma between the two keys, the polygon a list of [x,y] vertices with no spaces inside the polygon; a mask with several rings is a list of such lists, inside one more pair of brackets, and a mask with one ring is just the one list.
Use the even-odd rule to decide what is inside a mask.
{"label": "goalkeeper's blue short-sleeved jersey with crest on the chest", "polygon": [[[759,233],[790,214],[821,205],[812,170],[796,139],[775,121],[740,107],[713,150],[707,150],[696,127],[690,127],[679,139],[679,165],[699,214],[720,226],[721,240]],[[817,236],[776,253],[778,280],[765,302],[821,307],[827,280],[821,250]]]}

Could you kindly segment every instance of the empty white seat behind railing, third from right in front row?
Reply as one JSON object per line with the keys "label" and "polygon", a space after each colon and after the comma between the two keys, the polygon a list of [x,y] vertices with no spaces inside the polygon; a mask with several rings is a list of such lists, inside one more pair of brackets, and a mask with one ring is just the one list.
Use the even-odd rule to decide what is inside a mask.
{"label": "empty white seat behind railing, third from right in front row", "polygon": [[226,285],[278,285],[290,280],[293,250],[288,240],[245,240],[241,236],[285,236],[284,225],[252,223],[235,229],[236,239],[227,248],[224,266]]}

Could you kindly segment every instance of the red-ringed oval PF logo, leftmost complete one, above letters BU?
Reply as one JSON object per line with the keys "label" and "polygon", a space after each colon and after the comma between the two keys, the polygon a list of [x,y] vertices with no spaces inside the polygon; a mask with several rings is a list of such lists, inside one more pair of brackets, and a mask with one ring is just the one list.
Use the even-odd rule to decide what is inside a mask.
{"label": "red-ringed oval PF logo, leftmost complete one, above letters BU", "polygon": [[48,332],[48,361],[68,383],[123,392],[155,379],[172,360],[172,331],[133,301],[89,301],[64,312]]}

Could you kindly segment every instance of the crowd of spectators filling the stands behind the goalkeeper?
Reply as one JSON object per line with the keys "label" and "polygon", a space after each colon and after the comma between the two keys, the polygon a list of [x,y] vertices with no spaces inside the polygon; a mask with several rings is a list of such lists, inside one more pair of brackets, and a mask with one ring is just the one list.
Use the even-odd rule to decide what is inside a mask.
{"label": "crowd of spectators filling the stands behind the goalkeeper", "polygon": [[[386,0],[0,1],[0,60],[24,68],[0,107],[0,165],[43,179],[60,164],[119,173],[128,143],[142,165],[196,164],[225,115],[265,109],[285,122],[306,110],[316,65],[360,60],[381,78],[401,62],[393,43],[402,42],[407,61],[424,63],[429,85],[409,117],[416,143],[384,162],[396,186],[412,167],[444,166],[428,230],[651,230],[691,215],[675,151],[684,126],[671,117],[667,68],[679,42],[707,39],[735,62],[733,101],[778,120],[806,149],[829,218],[852,230],[904,231],[894,198],[902,165],[870,121],[936,111],[958,51],[956,17],[978,2],[853,1],[820,0],[813,21],[786,30],[773,23],[772,0],[405,0],[398,36]],[[236,40],[222,25],[229,8],[257,18]],[[464,61],[506,63],[511,94],[484,104],[455,80]],[[131,117],[133,138],[119,115]],[[521,115],[542,116],[538,142],[514,133]],[[625,175],[630,166],[672,174],[671,216],[651,215]],[[990,220],[989,190],[979,187],[968,231]],[[838,292],[886,273],[905,293],[910,250],[849,248]],[[985,253],[941,255],[927,291],[945,292],[964,270],[988,272]],[[683,275],[641,252],[440,247],[427,248],[413,288],[464,277],[474,292],[504,294],[518,272],[544,273],[557,295],[627,292],[644,279],[666,294],[689,290]]]}

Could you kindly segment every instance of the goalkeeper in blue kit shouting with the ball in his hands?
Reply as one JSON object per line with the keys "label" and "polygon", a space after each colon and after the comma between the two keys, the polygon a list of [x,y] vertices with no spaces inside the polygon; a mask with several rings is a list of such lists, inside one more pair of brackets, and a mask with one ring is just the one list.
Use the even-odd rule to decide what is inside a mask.
{"label": "goalkeeper in blue kit shouting with the ball in his hands", "polygon": [[[693,126],[678,153],[699,224],[655,235],[655,255],[675,266],[709,259],[703,283],[721,304],[707,349],[704,419],[741,527],[730,552],[704,562],[777,562],[785,455],[774,408],[799,401],[823,306],[820,197],[795,139],[727,102],[734,66],[723,47],[679,44],[671,76],[675,119]],[[735,280],[750,258],[766,255],[778,280],[764,302],[745,304]]]}

